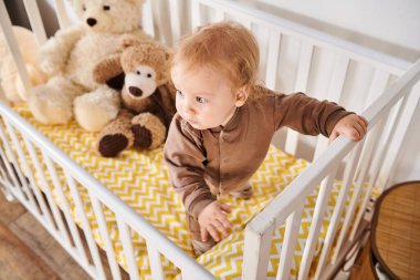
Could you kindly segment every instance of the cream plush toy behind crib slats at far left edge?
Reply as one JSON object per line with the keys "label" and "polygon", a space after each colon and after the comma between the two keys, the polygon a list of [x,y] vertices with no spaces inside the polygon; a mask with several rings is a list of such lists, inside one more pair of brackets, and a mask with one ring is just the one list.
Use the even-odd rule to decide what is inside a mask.
{"label": "cream plush toy behind crib slats at far left edge", "polygon": [[[1,30],[0,30],[1,31]],[[27,66],[31,85],[46,82],[48,76],[38,64],[40,48],[35,35],[28,29],[13,27],[14,38],[18,41],[23,62]],[[0,81],[6,98],[12,103],[28,100],[28,92],[18,73],[18,68],[11,55],[6,38],[0,32]]]}

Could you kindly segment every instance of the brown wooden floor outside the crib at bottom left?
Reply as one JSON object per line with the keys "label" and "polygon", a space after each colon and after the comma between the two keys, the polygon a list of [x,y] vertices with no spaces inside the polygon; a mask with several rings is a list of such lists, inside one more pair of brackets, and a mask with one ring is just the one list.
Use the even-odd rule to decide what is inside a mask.
{"label": "brown wooden floor outside the crib at bottom left", "polygon": [[0,280],[91,279],[19,203],[0,191]]}

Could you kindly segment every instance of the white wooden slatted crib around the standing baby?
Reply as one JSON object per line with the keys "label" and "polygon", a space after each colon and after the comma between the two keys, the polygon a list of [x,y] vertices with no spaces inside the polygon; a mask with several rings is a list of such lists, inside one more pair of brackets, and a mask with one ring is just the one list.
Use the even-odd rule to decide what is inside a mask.
{"label": "white wooden slatted crib around the standing baby", "polygon": [[[46,35],[36,1],[28,0],[24,3],[31,25],[42,43]],[[55,0],[55,6],[61,27],[71,24],[64,2]],[[3,1],[0,1],[0,19],[19,73],[30,90],[31,85],[22,66]],[[304,200],[321,184],[297,274],[298,279],[307,279],[330,188],[335,179],[340,179],[343,187],[334,206],[313,276],[315,279],[332,278],[343,266],[350,249],[360,243],[361,236],[368,227],[365,209],[369,207],[372,190],[382,190],[389,185],[397,155],[419,104],[420,62],[412,64],[366,49],[252,9],[241,1],[149,0],[145,4],[144,29],[164,43],[174,45],[181,34],[195,27],[220,20],[240,21],[255,33],[262,53],[261,79],[267,87],[281,92],[303,91],[318,98],[336,101],[350,111],[361,113],[369,121],[369,132],[360,143],[339,137],[327,146],[327,141],[323,137],[303,137],[293,131],[279,133],[279,146],[292,155],[305,156],[312,164],[244,229],[242,278],[266,278],[273,231],[285,225],[276,279],[288,279]],[[324,94],[318,95],[319,92]],[[104,237],[113,279],[120,279],[122,276],[106,229],[104,207],[113,211],[117,218],[132,279],[143,278],[133,253],[133,231],[146,240],[154,279],[165,279],[161,256],[180,269],[182,279],[214,279],[213,274],[149,225],[82,166],[75,164],[6,103],[0,103],[0,155],[3,159],[9,159],[3,160],[0,168],[1,189],[8,198],[15,198],[24,205],[93,279],[106,279],[104,263],[83,214],[75,183],[83,185],[88,193]],[[49,176],[56,186],[60,186],[60,178],[54,166],[61,166],[65,170],[66,185],[82,217],[87,248],[82,245],[82,237],[71,218],[69,206],[59,207],[52,199],[50,188],[45,187],[41,191],[35,182],[27,183],[28,163],[27,157],[22,155],[22,146],[29,152],[31,164],[38,168],[36,170],[41,170],[41,162],[48,166]],[[34,147],[42,151],[41,157],[36,155]],[[45,183],[45,177],[41,176],[40,182]],[[346,204],[350,186],[355,187],[350,201]],[[335,249],[330,257],[333,243]],[[87,255],[92,256],[92,260]]]}

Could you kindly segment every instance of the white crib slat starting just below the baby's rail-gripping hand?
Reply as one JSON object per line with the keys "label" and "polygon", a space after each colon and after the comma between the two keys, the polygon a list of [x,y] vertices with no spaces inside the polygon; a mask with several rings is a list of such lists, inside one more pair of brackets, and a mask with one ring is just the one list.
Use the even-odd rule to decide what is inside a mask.
{"label": "white crib slat starting just below the baby's rail-gripping hand", "polygon": [[360,158],[360,153],[361,153],[364,142],[365,141],[363,139],[360,143],[358,143],[356,148],[354,148],[349,155],[349,160],[348,160],[348,164],[346,166],[345,176],[343,179],[343,185],[342,185],[342,188],[340,188],[338,197],[337,197],[337,203],[334,207],[332,219],[329,221],[327,234],[326,234],[326,237],[324,240],[324,247],[323,247],[323,250],[321,252],[321,257],[319,257],[318,265],[316,267],[314,279],[319,279],[321,273],[323,272],[323,269],[324,269],[324,265],[325,265],[326,259],[328,257],[330,247],[334,242],[335,234],[337,231],[337,227],[338,227],[339,220],[342,218],[342,211],[343,211],[343,208],[344,208],[345,203],[346,203],[348,188],[349,188],[351,179],[355,176],[356,166],[357,166],[357,163]]}

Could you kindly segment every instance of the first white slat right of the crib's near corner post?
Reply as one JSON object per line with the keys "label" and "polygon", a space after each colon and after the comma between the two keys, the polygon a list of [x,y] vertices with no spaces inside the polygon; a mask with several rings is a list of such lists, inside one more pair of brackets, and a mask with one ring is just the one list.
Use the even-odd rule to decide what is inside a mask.
{"label": "first white slat right of the crib's near corner post", "polygon": [[296,207],[296,210],[294,210],[286,220],[286,229],[284,231],[282,252],[280,253],[276,280],[286,280],[291,276],[292,261],[294,259],[298,230],[301,228],[303,207],[304,204]]}

